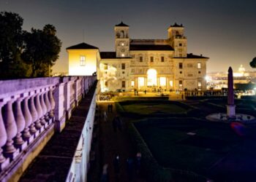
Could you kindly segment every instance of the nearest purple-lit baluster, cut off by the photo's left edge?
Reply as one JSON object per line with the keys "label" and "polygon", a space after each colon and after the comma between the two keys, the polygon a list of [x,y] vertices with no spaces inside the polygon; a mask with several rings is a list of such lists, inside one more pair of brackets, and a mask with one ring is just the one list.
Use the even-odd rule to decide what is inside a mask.
{"label": "nearest purple-lit baluster, cut off by the photo's left edge", "polygon": [[9,159],[6,159],[3,155],[3,149],[1,149],[7,142],[7,132],[4,127],[4,119],[1,116],[1,103],[0,103],[0,171],[9,164]]}

